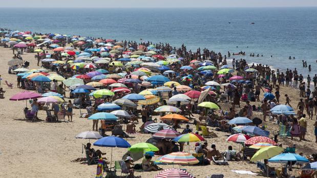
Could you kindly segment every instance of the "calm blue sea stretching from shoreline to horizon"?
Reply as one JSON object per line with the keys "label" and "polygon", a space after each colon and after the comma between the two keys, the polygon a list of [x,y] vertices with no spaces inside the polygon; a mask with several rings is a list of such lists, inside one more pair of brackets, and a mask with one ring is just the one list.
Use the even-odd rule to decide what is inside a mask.
{"label": "calm blue sea stretching from shoreline to horizon", "polygon": [[0,17],[0,27],[20,31],[184,43],[187,49],[207,47],[224,54],[242,50],[263,55],[247,55],[248,61],[282,70],[297,67],[306,77],[305,60],[312,66],[310,74],[317,73],[317,8],[6,8]]}

